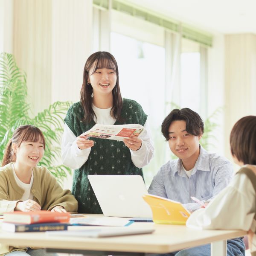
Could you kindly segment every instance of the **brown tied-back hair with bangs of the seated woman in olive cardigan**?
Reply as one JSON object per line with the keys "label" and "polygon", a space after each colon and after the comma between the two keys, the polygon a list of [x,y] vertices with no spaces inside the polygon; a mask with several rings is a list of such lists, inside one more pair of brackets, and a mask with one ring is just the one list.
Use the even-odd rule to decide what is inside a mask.
{"label": "brown tied-back hair with bangs of the seated woman in olive cardigan", "polygon": [[45,149],[45,139],[42,131],[34,125],[21,125],[14,131],[12,139],[7,143],[6,150],[3,155],[2,167],[8,163],[16,162],[16,154],[12,149],[12,143],[15,143],[17,147],[19,147],[23,141],[40,141],[44,144]]}

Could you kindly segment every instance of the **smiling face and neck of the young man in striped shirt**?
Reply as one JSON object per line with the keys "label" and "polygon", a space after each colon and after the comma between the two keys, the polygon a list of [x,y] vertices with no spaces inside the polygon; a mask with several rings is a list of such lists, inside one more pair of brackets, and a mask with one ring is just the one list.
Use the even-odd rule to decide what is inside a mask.
{"label": "smiling face and neck of the young man in striped shirt", "polygon": [[199,140],[202,135],[189,134],[184,120],[173,121],[168,131],[168,143],[172,153],[182,160],[185,169],[186,166],[193,168],[200,153]]}

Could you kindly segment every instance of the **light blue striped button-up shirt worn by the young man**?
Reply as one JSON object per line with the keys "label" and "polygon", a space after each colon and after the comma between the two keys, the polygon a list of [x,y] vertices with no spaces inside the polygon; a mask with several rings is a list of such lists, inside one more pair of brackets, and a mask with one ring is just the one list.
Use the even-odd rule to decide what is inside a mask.
{"label": "light blue striped button-up shirt worn by the young man", "polygon": [[191,177],[186,175],[180,159],[169,160],[154,176],[148,193],[182,203],[189,211],[201,206],[191,199],[208,201],[218,195],[233,177],[233,165],[225,157],[209,154],[200,146],[200,154]]}

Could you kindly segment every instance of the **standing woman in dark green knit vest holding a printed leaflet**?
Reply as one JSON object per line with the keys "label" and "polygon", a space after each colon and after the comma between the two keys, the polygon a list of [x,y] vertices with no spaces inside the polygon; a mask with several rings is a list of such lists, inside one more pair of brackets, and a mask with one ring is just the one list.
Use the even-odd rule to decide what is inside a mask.
{"label": "standing woman in dark green knit vest holding a printed leaflet", "polygon": [[[134,100],[120,93],[118,67],[109,52],[95,52],[84,66],[80,102],[73,104],[64,119],[63,163],[75,169],[72,193],[79,212],[102,213],[87,175],[141,175],[153,157],[147,115]],[[140,138],[122,141],[80,136],[95,124],[144,126]],[[131,187],[132,189],[132,187]]]}

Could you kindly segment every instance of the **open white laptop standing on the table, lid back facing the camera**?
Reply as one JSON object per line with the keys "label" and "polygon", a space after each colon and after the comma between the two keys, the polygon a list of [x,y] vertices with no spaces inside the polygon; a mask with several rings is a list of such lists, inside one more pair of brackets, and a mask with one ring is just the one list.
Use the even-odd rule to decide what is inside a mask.
{"label": "open white laptop standing on the table, lid back facing the camera", "polygon": [[88,175],[94,194],[105,216],[152,218],[140,175]]}

